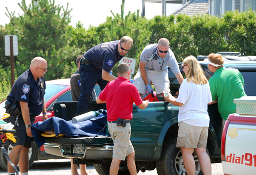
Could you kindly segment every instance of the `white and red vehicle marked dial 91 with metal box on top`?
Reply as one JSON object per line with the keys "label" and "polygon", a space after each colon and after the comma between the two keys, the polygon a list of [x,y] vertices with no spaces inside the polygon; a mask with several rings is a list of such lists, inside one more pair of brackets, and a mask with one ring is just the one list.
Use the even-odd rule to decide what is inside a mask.
{"label": "white and red vehicle marked dial 91 with metal box on top", "polygon": [[256,96],[234,99],[237,114],[230,114],[222,133],[224,174],[256,174]]}

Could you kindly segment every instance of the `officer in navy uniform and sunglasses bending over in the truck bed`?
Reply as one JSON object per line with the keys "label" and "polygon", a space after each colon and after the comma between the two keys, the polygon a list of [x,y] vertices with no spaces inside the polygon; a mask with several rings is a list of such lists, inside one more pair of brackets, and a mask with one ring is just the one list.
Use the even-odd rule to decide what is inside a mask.
{"label": "officer in navy uniform and sunglasses bending over in the truck bed", "polygon": [[98,44],[83,55],[80,61],[81,93],[76,107],[76,115],[87,112],[90,95],[96,83],[103,90],[108,82],[117,79],[110,71],[133,45],[129,36],[120,40]]}

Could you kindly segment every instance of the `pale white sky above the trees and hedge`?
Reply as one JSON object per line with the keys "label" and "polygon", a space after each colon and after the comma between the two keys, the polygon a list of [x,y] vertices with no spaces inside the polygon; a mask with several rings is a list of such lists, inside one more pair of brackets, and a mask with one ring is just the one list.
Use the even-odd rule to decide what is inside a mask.
{"label": "pale white sky above the trees and hedge", "polygon": [[[0,25],[5,26],[10,20],[6,16],[6,7],[9,12],[15,11],[15,16],[23,15],[22,9],[18,6],[22,0],[0,0]],[[28,6],[31,0],[26,0]],[[122,0],[55,0],[55,5],[60,4],[65,9],[69,3],[68,9],[72,8],[70,13],[71,25],[76,26],[78,21],[81,21],[84,28],[89,28],[90,25],[98,26],[103,23],[107,16],[112,16],[111,10],[116,13],[121,13]],[[166,15],[172,14],[181,5],[167,4]],[[141,14],[142,3],[141,0],[126,0],[124,3],[124,13],[128,14],[129,11]],[[155,15],[161,15],[161,3],[145,3],[145,17],[150,19]]]}

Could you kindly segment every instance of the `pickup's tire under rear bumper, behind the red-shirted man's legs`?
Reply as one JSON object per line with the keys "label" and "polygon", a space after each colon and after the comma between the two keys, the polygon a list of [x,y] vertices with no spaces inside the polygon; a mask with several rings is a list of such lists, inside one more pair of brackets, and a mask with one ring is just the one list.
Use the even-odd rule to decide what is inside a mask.
{"label": "pickup's tire under rear bumper, behind the red-shirted man's legs", "polygon": [[[93,164],[96,171],[99,173],[99,175],[109,175],[110,174],[110,164],[102,163],[102,164]],[[140,171],[138,168],[136,169],[137,173]],[[129,175],[130,172],[127,168],[127,164],[120,163],[118,175]]]}

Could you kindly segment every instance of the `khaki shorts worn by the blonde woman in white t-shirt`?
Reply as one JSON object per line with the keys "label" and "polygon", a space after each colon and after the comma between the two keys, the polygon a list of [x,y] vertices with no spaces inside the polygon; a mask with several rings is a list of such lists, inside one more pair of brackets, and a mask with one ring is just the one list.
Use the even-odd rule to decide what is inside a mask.
{"label": "khaki shorts worn by the blonde woman in white t-shirt", "polygon": [[206,147],[209,127],[196,127],[183,121],[179,123],[176,147]]}

